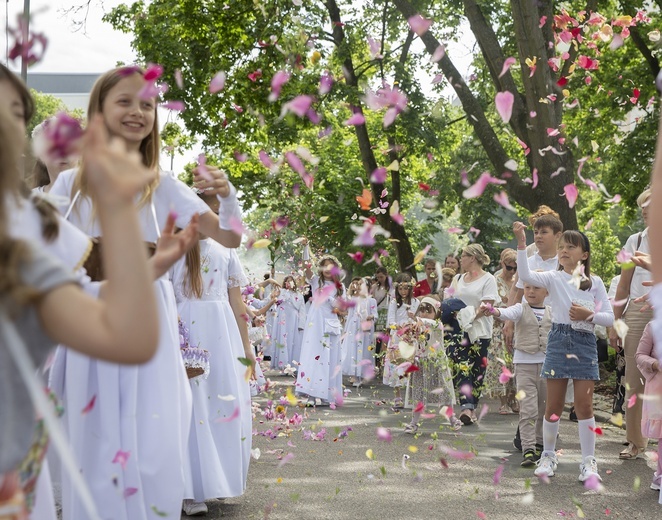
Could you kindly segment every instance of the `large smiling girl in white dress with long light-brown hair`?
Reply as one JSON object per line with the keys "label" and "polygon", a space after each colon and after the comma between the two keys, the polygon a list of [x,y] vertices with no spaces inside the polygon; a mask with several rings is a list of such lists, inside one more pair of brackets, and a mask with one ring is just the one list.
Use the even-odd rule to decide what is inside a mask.
{"label": "large smiling girl in white dress with long light-brown hair", "polygon": [[[103,74],[90,94],[88,119],[103,117],[111,137],[154,172],[154,180],[137,200],[145,240],[156,242],[159,229],[176,213],[185,228],[200,214],[200,231],[228,247],[241,238],[230,230],[240,219],[236,190],[217,169],[195,169],[199,189],[223,197],[220,218],[173,175],[158,173],[159,135],[156,99],[145,99],[147,86],[138,67]],[[80,170],[61,173],[51,193],[71,198],[68,219],[89,236],[99,237],[97,208]],[[220,220],[220,226],[219,226]],[[99,509],[114,520],[176,518],[184,498],[184,467],[190,427],[191,392],[179,353],[177,308],[172,283],[166,277],[154,283],[159,306],[159,348],[139,367],[101,363],[66,349],[53,370],[63,374],[63,420],[69,440]],[[130,298],[127,295],[127,298]],[[60,365],[60,367],[58,367]],[[91,400],[95,405],[87,414]],[[128,455],[126,455],[128,454]],[[123,490],[130,489],[126,494]],[[64,520],[86,517],[79,499],[63,478]]]}

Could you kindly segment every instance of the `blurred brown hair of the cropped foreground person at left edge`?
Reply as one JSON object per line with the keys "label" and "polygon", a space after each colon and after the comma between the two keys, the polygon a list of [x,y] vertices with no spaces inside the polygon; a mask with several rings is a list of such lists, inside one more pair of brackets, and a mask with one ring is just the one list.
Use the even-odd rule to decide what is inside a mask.
{"label": "blurred brown hair of the cropped foreground person at left edge", "polygon": [[24,305],[37,295],[20,276],[20,267],[29,261],[30,250],[26,242],[9,234],[7,204],[12,198],[21,200],[20,163],[21,132],[9,111],[0,107],[0,294],[14,304]]}

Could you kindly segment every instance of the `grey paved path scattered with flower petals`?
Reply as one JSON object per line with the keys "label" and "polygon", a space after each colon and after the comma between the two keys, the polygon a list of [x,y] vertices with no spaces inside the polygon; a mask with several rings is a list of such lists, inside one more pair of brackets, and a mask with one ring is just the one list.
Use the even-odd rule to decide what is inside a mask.
{"label": "grey paved path scattered with flower petals", "polygon": [[[292,378],[273,374],[271,378],[277,383],[276,399],[293,383]],[[254,436],[253,446],[261,454],[251,461],[246,494],[225,503],[210,502],[207,518],[662,518],[657,493],[649,489],[654,463],[648,458],[619,460],[624,432],[615,426],[600,424],[603,435],[598,437],[596,455],[604,490],[598,493],[585,490],[577,481],[577,425],[566,420],[567,414],[561,423],[557,475],[544,484],[532,469],[519,466],[521,454],[512,447],[517,418],[492,412],[498,409],[495,402],[485,403],[490,411],[479,425],[452,432],[440,429],[441,419],[427,419],[414,437],[402,432],[401,423],[409,421],[409,411],[394,413],[380,404],[391,397],[390,389],[374,385],[352,390],[336,410],[288,406],[288,418],[294,412],[306,415],[298,427],[258,416],[254,428],[278,436]],[[257,404],[264,408],[267,399],[259,398]],[[391,442],[377,438],[379,426],[391,430]],[[323,440],[306,438],[311,433],[305,432],[319,435],[322,429],[326,431]],[[475,456],[454,458],[444,455],[442,447]],[[367,450],[372,450],[372,459],[366,456]],[[442,457],[446,466],[440,462]],[[498,478],[500,467],[503,472]]]}

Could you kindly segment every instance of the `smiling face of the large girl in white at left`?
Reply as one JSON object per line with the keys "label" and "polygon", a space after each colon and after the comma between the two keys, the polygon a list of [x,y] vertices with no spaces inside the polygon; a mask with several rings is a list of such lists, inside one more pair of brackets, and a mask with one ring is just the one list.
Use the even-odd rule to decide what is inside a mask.
{"label": "smiling face of the large girl in white at left", "polygon": [[145,81],[140,74],[130,74],[108,91],[102,112],[108,132],[137,149],[152,132],[156,118],[154,99],[140,99]]}

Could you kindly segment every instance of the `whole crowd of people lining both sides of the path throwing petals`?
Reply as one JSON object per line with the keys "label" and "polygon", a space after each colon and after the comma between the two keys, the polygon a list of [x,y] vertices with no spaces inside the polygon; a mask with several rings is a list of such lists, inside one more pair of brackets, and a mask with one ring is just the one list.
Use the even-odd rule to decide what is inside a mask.
{"label": "whole crowd of people lining both sides of the path throwing petals", "polygon": [[[522,466],[544,478],[557,468],[559,418],[571,402],[579,480],[590,482],[601,480],[593,390],[602,327],[624,359],[620,458],[662,437],[662,331],[651,310],[662,289],[651,291],[649,272],[649,255],[660,258],[649,234],[659,228],[628,239],[636,267],[623,269],[611,298],[591,273],[586,235],[563,230],[546,207],[529,221],[533,244],[524,224],[513,225],[517,250],[502,251],[494,274],[470,243],[443,263],[426,259],[420,281],[384,267],[345,280],[335,256],[314,258],[302,239],[300,272],[251,285],[236,254],[235,188],[209,165],[194,170],[194,189],[159,170],[156,100],[145,86],[138,67],[103,74],[79,161],[45,151],[29,192],[19,164],[34,103],[0,68],[1,337],[9,345],[18,334],[26,366],[47,365],[76,461],[75,472],[50,471],[31,404],[36,378],[15,369],[26,361],[20,349],[3,347],[0,388],[12,398],[0,405],[0,517],[54,519],[55,478],[63,518],[93,518],[81,475],[93,507],[116,519],[204,514],[206,500],[240,496],[251,398],[268,384],[260,360],[295,377],[311,407],[340,406],[350,388],[381,378],[393,408],[411,409],[407,434],[432,408],[453,431],[472,427],[481,399],[499,399],[498,413],[519,415]],[[659,158],[654,175],[657,191],[638,201],[646,226],[655,197],[662,205]],[[48,358],[57,344],[66,347]],[[659,461],[653,489],[661,477]]]}

